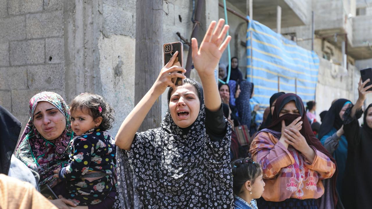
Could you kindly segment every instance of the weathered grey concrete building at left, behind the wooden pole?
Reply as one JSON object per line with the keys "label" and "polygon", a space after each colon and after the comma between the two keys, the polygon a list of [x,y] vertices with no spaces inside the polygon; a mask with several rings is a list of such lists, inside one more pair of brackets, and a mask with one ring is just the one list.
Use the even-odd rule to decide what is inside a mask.
{"label": "weathered grey concrete building at left, behind the wooden pole", "polygon": [[[164,1],[160,43],[180,41],[176,32],[190,40],[192,10],[192,1]],[[215,11],[218,1],[206,1],[200,34],[218,20]],[[98,93],[115,109],[115,135],[135,105],[135,12],[135,0],[0,0],[0,105],[25,127],[36,93],[54,91],[67,103]],[[163,96],[162,115],[166,103]]]}

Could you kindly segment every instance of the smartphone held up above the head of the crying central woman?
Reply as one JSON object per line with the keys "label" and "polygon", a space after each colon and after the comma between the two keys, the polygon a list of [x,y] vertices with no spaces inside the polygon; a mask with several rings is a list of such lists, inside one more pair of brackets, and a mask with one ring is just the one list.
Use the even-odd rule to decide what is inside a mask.
{"label": "smartphone held up above the head of the crying central woman", "polygon": [[[174,60],[173,65],[177,65],[180,67],[183,66],[183,45],[181,42],[173,42],[163,45],[164,65],[166,65],[170,61],[176,51],[178,51],[178,55]],[[178,71],[178,73],[182,73],[182,71]],[[174,85],[176,86],[181,86],[183,84],[182,78],[176,77],[172,78],[171,80],[172,83],[174,83]]]}

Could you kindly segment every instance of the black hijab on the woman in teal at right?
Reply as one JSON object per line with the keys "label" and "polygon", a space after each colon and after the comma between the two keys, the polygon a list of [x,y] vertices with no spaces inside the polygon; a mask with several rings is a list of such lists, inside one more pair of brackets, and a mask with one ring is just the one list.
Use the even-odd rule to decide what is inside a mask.
{"label": "black hijab on the woman in teal at right", "polygon": [[321,139],[324,135],[328,134],[333,128],[339,130],[343,125],[343,121],[340,118],[340,112],[345,103],[351,103],[347,99],[338,99],[331,105],[327,114],[325,114],[322,124],[320,125],[318,139]]}

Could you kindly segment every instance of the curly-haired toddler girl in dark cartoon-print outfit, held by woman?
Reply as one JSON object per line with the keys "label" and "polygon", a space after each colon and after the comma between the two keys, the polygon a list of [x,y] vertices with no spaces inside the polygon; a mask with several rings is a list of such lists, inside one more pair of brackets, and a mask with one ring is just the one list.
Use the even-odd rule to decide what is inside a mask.
{"label": "curly-haired toddler girl in dark cartoon-print outfit, held by woman", "polygon": [[113,109],[102,96],[83,93],[70,104],[72,142],[68,165],[54,173],[67,181],[66,199],[77,205],[102,202],[114,186],[115,141],[107,132],[112,127]]}

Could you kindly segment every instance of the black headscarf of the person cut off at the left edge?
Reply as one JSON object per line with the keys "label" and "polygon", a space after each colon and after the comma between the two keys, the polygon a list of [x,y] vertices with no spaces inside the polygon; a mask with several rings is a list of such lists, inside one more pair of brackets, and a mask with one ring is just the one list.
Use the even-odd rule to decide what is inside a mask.
{"label": "black headscarf of the person cut off at the left edge", "polygon": [[0,173],[8,175],[10,160],[16,148],[21,123],[0,105]]}

